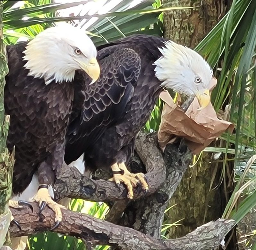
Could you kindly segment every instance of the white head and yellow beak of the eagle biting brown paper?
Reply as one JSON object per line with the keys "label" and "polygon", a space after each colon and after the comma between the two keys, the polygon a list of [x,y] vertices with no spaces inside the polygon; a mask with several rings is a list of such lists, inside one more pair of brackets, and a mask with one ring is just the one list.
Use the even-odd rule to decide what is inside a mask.
{"label": "white head and yellow beak of the eagle biting brown paper", "polygon": [[162,86],[178,93],[196,96],[201,108],[210,102],[212,69],[200,54],[172,41],[159,48],[162,56],[155,61],[155,75]]}

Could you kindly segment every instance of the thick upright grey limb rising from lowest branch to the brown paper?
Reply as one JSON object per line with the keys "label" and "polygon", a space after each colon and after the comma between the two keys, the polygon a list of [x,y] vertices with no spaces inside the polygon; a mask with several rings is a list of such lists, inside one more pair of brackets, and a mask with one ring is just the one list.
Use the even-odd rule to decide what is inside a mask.
{"label": "thick upright grey limb rising from lowest branch to the brown paper", "polygon": [[[139,147],[136,147],[136,150],[140,150],[140,154],[144,152]],[[168,201],[191,163],[192,153],[183,142],[179,145],[169,144],[166,146],[164,158],[166,163],[162,167],[167,172],[165,181],[154,194],[129,204],[120,223],[156,238],[160,237]]]}

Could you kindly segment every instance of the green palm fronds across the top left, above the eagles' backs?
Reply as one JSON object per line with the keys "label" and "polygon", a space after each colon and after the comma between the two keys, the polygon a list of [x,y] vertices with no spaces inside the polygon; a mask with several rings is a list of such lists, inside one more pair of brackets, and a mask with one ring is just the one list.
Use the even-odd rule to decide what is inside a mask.
{"label": "green palm fronds across the top left, above the eagles' backs", "polygon": [[[86,4],[88,1],[74,2],[74,3],[52,3],[51,0],[35,1],[29,0],[24,1],[23,6],[13,8],[15,4],[20,1],[5,1],[4,2],[4,14],[3,14],[3,24],[4,24],[4,34],[9,36],[7,30],[15,30],[17,33],[30,36],[33,38],[42,29],[52,26],[54,22],[60,21],[73,21],[73,20],[90,20],[92,17],[98,18],[97,22],[93,26],[88,28],[88,31],[96,33],[101,36],[106,36],[107,41],[113,40],[120,35],[122,31],[126,35],[133,34],[134,32],[141,30],[144,34],[154,34],[162,35],[160,30],[161,22],[157,17],[159,14],[165,10],[177,10],[180,8],[165,8],[165,9],[155,9],[152,6],[154,1],[144,1],[141,4],[129,8],[132,3],[131,0],[122,1],[116,7],[112,9],[111,12],[105,14],[95,13],[94,15],[83,15],[83,16],[70,16],[70,17],[57,17],[55,12],[57,10],[66,9],[80,4]],[[187,7],[191,8],[191,7]],[[196,7],[193,7],[196,8]],[[108,19],[107,19],[108,18]],[[155,28],[149,28],[150,25],[158,25]],[[159,26],[160,25],[160,26]],[[33,26],[33,28],[31,28]],[[30,27],[29,29],[24,29]],[[36,27],[36,28],[34,28]],[[19,29],[19,31],[17,31]],[[150,30],[149,30],[150,29]],[[118,32],[119,30],[119,32]],[[16,37],[16,36],[15,36]],[[106,41],[102,39],[96,39],[95,42]],[[15,42],[15,39],[9,40],[8,43]]]}

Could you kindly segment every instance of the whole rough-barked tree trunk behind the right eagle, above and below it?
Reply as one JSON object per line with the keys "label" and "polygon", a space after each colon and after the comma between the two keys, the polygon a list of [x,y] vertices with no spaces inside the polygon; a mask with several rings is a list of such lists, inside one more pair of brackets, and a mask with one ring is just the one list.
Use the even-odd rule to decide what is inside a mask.
{"label": "whole rough-barked tree trunk behind the right eagle, above and below it", "polygon": [[[164,7],[195,7],[163,14],[165,38],[194,48],[225,14],[231,1],[163,0],[163,4]],[[219,184],[223,166],[222,163],[218,166],[210,162],[210,156],[204,154],[201,162],[188,168],[184,174],[169,203],[169,206],[177,205],[168,211],[170,222],[181,220],[178,224],[182,226],[171,227],[168,238],[182,237],[198,226],[222,216],[226,197],[223,197],[221,186],[213,188]]]}

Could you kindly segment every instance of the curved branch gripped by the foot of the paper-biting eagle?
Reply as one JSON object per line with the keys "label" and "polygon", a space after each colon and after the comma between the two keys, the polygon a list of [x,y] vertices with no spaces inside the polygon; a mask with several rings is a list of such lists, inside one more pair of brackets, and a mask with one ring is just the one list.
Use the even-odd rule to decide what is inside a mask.
{"label": "curved branch gripped by the foot of the paper-biting eagle", "polygon": [[[155,135],[154,135],[155,136]],[[164,169],[164,160],[156,146],[152,143],[152,138],[146,142],[146,135],[140,135],[136,139],[137,144],[143,145],[147,150],[143,153],[145,158],[144,164],[149,166],[149,171],[146,174],[150,189],[147,196],[153,194],[166,178]],[[145,143],[145,144],[143,144]],[[142,146],[141,146],[142,147]],[[81,198],[90,201],[115,202],[117,200],[127,200],[127,190],[123,186],[121,190],[112,181],[106,180],[91,180],[90,178],[81,175],[74,167],[63,166],[57,181],[54,186],[56,190],[55,198],[60,200],[64,197]],[[138,186],[134,192],[134,199],[144,195]]]}

